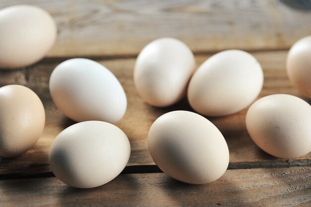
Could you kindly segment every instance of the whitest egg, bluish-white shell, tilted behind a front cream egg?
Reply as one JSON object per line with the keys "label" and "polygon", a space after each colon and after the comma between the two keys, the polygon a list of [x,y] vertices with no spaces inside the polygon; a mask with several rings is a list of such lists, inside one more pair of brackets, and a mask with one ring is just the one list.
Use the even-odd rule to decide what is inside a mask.
{"label": "whitest egg, bluish-white shell, tilted behind a front cream egg", "polygon": [[84,58],[66,60],[55,68],[50,93],[57,107],[75,121],[115,123],[127,107],[118,79],[101,64]]}

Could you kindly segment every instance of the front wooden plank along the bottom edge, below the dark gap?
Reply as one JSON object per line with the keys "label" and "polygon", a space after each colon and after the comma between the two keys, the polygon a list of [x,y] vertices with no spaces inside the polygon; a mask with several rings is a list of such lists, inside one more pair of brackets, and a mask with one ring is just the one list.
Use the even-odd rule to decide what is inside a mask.
{"label": "front wooden plank along the bottom edge, below the dark gap", "polygon": [[311,167],[227,170],[205,185],[163,173],[120,175],[94,189],[68,187],[57,178],[1,180],[0,197],[1,207],[310,206]]}

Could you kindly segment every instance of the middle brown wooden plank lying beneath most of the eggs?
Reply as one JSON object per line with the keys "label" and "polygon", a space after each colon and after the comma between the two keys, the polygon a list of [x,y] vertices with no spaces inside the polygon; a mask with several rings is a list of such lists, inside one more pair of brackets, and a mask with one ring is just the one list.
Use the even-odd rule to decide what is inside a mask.
{"label": "middle brown wooden plank lying beneath most of the eggs", "polygon": [[[292,94],[304,98],[289,82],[285,71],[286,51],[254,52],[264,70],[264,87],[259,97],[275,93]],[[197,65],[209,55],[196,56]],[[116,125],[120,127],[131,141],[131,158],[128,166],[139,172],[158,172],[147,146],[147,135],[154,120],[171,110],[191,110],[187,100],[167,108],[156,108],[144,103],[138,96],[133,84],[133,67],[135,59],[115,59],[99,61],[109,68],[120,80],[128,97],[128,109],[124,118]],[[42,99],[46,109],[46,127],[37,144],[25,154],[0,161],[0,179],[18,178],[50,172],[48,152],[54,138],[64,128],[75,122],[66,118],[52,102],[48,90],[51,72],[59,62],[42,61],[34,66],[19,71],[0,72],[0,86],[12,83],[26,85],[33,89]],[[304,98],[305,99],[305,98]],[[310,103],[310,100],[307,100]],[[230,169],[239,168],[275,168],[311,165],[311,153],[298,159],[284,160],[272,157],[260,150],[249,137],[245,128],[247,109],[225,117],[207,117],[223,133],[230,150]],[[130,169],[127,169],[131,172]],[[50,174],[48,174],[50,175]]]}

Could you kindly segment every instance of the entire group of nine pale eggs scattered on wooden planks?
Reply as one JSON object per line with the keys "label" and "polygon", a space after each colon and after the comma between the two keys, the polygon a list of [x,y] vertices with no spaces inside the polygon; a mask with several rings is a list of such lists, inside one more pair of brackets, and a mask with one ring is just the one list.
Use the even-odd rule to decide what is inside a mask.
{"label": "entire group of nine pale eggs scattered on wooden planks", "polygon": [[[41,8],[12,6],[0,10],[0,36],[0,68],[19,68],[46,54],[55,42],[56,26]],[[290,80],[309,98],[310,54],[311,37],[306,37],[291,48],[287,58]],[[192,51],[174,38],[149,43],[134,69],[135,87],[146,103],[164,107],[187,95],[191,107],[205,116],[230,115],[248,107],[260,94],[263,78],[258,61],[241,50],[219,52],[196,70]],[[49,162],[53,173],[77,188],[93,188],[114,179],[131,153],[126,134],[113,125],[127,108],[120,82],[101,64],[75,58],[54,69],[49,88],[57,107],[78,121],[52,143]],[[156,165],[167,175],[191,184],[217,180],[229,164],[229,149],[221,131],[198,113],[165,113],[148,134]],[[30,89],[4,86],[0,88],[0,119],[0,156],[15,157],[39,139],[44,107]],[[253,141],[280,158],[311,151],[310,124],[311,105],[285,94],[257,100],[246,114],[246,128]]]}

